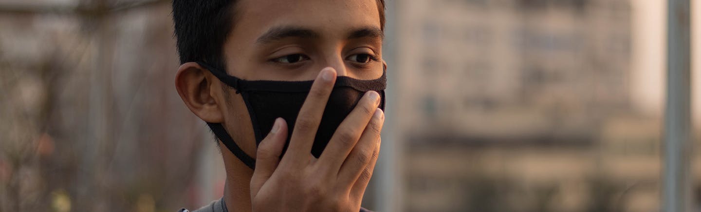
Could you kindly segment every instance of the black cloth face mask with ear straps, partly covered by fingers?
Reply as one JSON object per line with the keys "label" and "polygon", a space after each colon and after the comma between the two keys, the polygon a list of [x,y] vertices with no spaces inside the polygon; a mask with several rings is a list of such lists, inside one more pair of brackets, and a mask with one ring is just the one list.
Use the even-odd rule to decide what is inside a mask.
{"label": "black cloth face mask with ear straps, partly covered by fingers", "polygon": [[[311,85],[314,81],[268,81],[256,80],[247,81],[233,77],[226,72],[215,69],[204,62],[198,64],[206,69],[209,69],[224,84],[236,89],[236,93],[240,94],[243,102],[246,104],[248,114],[251,117],[253,131],[256,137],[256,146],[261,143],[261,140],[266,137],[269,131],[273,128],[275,119],[282,117],[287,121],[289,128],[287,142],[283,149],[283,154],[287,150],[287,145],[290,144],[292,129],[294,122],[297,120],[297,114],[301,110],[302,104],[306,99]],[[385,108],[385,88],[387,86],[386,70],[383,69],[382,77],[372,80],[353,79],[350,77],[337,77],[334,89],[329,96],[324,114],[321,118],[321,123],[316,132],[316,137],[311,149],[311,154],[314,157],[319,157],[326,145],[331,140],[331,136],[339,127],[341,121],[346,119],[346,116],[351,113],[355,105],[362,98],[362,95],[367,91],[377,91],[380,94],[379,108]],[[233,142],[233,139],[226,132],[221,123],[209,123],[207,126],[212,129],[212,132],[217,135],[219,140],[226,145],[226,148],[233,153],[238,159],[243,161],[250,168],[255,167],[255,159]]]}

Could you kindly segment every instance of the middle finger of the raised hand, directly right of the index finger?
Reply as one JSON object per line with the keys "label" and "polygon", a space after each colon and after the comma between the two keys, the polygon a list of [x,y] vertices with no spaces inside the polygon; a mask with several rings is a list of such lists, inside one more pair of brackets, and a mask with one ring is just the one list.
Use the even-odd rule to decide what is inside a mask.
{"label": "middle finger of the raised hand, directly right of the index finger", "polygon": [[[326,169],[326,173],[339,173],[341,164],[348,157],[348,153],[353,150],[355,144],[358,143],[360,136],[366,131],[369,121],[373,119],[373,114],[378,110],[380,105],[380,95],[375,91],[368,91],[358,102],[358,105],[353,108],[351,114],[348,114],[346,119],[343,119],[339,128],[332,135],[329,144],[321,153],[318,161],[318,167]],[[375,128],[370,128],[370,131],[376,131]],[[379,136],[379,133],[377,133]],[[367,152],[372,151],[372,148]]]}

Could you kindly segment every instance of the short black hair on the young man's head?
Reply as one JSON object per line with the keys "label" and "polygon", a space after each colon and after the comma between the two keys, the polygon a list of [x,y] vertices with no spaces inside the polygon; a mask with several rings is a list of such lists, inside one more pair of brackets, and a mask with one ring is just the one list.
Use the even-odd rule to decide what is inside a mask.
{"label": "short black hair on the young man's head", "polygon": [[[385,27],[385,1],[377,1],[380,27]],[[172,0],[180,64],[207,62],[226,70],[223,46],[233,29],[236,0]]]}

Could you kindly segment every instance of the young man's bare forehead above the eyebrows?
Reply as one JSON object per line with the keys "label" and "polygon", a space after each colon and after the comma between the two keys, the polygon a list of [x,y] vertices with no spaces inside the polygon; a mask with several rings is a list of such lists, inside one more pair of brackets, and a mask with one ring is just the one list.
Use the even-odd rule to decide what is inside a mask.
{"label": "young man's bare forehead above the eyebrows", "polygon": [[243,0],[236,6],[233,32],[261,34],[293,25],[322,33],[380,27],[376,0]]}

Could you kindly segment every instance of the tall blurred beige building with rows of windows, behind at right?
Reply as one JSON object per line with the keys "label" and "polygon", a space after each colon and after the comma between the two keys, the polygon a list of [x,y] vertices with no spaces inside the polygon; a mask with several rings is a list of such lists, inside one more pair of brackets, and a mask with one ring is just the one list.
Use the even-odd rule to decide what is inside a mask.
{"label": "tall blurred beige building with rows of windows, behind at right", "polygon": [[630,109],[627,1],[398,7],[405,16],[395,79],[408,103],[399,113],[416,114],[402,117],[409,132],[470,143],[588,143],[601,119]]}

